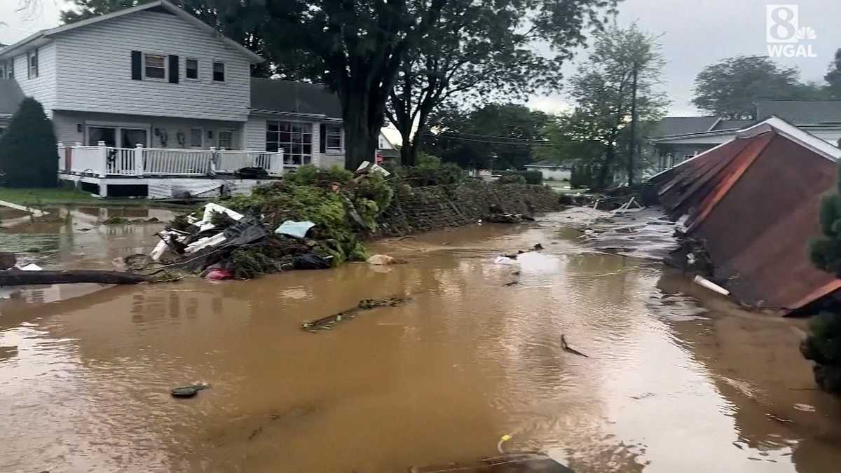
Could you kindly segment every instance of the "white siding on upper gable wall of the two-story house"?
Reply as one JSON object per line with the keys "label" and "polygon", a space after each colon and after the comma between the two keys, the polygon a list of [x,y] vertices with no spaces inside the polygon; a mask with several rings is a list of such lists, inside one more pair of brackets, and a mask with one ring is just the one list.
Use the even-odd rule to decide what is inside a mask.
{"label": "white siding on upper gable wall of the two-story house", "polygon": [[[240,122],[248,118],[249,59],[174,15],[133,13],[56,35],[56,42],[61,52],[58,109]],[[188,58],[205,66],[199,66],[198,80],[132,80],[133,50],[178,56],[182,78]],[[43,66],[43,49],[41,55]],[[209,65],[214,61],[225,63],[225,82],[212,80]]]}

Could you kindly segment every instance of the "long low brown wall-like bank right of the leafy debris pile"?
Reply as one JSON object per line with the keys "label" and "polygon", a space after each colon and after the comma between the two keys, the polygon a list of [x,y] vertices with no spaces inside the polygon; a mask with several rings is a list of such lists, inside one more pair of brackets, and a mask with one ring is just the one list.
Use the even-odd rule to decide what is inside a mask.
{"label": "long low brown wall-like bank right of the leafy debris pile", "polygon": [[545,186],[469,182],[398,189],[379,219],[383,236],[476,223],[494,212],[533,215],[562,208],[560,195]]}

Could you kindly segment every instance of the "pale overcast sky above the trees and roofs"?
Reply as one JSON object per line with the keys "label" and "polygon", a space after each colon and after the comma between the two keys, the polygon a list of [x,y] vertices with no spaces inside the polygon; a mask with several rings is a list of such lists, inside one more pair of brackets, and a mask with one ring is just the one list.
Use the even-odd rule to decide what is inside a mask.
{"label": "pale overcast sky above the trees and roofs", "polygon": [[[64,0],[40,0],[41,8],[24,18],[15,12],[25,0],[0,0],[0,42],[13,43],[38,29],[58,24]],[[667,65],[663,88],[673,100],[670,113],[693,115],[689,104],[692,82],[703,66],[726,57],[768,54],[765,43],[767,4],[794,4],[799,8],[799,26],[812,27],[817,38],[803,40],[817,57],[779,59],[797,66],[804,80],[822,81],[836,49],[841,47],[841,0],[626,0],[620,3],[619,22],[637,21],[648,31],[663,34],[661,43]],[[582,51],[581,55],[586,54]],[[580,56],[580,55],[579,55]],[[574,64],[564,68],[574,72]],[[547,111],[564,108],[563,94],[535,96],[529,105]]]}

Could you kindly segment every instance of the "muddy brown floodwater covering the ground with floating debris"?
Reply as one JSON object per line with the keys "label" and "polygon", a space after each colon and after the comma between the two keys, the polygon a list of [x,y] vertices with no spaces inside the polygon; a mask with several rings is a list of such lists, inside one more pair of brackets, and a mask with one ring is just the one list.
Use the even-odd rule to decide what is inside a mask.
{"label": "muddy brown floodwater covering the ground with floating debris", "polygon": [[[3,238],[50,242],[33,257],[47,265],[154,244],[155,226],[73,218]],[[0,470],[399,472],[494,454],[505,433],[579,473],[841,470],[841,409],[797,352],[805,322],[578,236],[555,214],[379,242],[409,260],[388,268],[26,290],[0,304]],[[212,387],[169,396],[194,380]]]}

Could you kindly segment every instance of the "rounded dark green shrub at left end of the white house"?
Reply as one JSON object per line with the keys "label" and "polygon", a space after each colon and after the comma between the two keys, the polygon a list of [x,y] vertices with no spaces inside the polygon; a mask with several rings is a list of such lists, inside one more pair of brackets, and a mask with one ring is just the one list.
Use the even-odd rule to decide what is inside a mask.
{"label": "rounded dark green shrub at left end of the white house", "polygon": [[58,151],[52,122],[34,98],[24,98],[0,135],[0,171],[8,187],[58,185]]}

